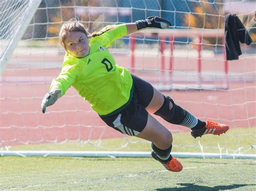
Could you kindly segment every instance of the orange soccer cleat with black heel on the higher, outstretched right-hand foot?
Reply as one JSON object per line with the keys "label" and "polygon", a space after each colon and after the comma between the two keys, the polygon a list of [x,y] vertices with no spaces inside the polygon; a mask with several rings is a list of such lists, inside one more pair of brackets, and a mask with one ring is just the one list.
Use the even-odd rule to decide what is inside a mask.
{"label": "orange soccer cleat with black heel on the higher, outstretched right-hand foot", "polygon": [[222,133],[226,133],[229,127],[225,124],[206,121],[206,126],[199,130],[191,131],[191,135],[194,138],[201,137],[206,134],[220,135]]}

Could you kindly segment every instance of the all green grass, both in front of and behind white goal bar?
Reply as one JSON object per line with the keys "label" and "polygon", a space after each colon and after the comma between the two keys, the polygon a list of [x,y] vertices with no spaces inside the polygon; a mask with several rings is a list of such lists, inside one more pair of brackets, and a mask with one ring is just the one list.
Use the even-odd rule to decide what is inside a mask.
{"label": "all green grass, both in front of and behind white goal bar", "polygon": [[[241,152],[255,154],[254,135],[255,128],[233,129],[223,136],[200,139],[191,138],[189,133],[174,134],[173,152],[200,152],[200,140],[204,152],[218,152],[219,144],[230,153],[240,147]],[[106,139],[100,147],[96,143],[66,142],[14,146],[9,150],[105,151],[106,147],[114,150],[117,143],[129,143],[120,151],[151,150],[149,142],[136,138]],[[256,160],[179,160],[184,169],[173,173],[152,158],[0,157],[0,190],[256,190]]]}

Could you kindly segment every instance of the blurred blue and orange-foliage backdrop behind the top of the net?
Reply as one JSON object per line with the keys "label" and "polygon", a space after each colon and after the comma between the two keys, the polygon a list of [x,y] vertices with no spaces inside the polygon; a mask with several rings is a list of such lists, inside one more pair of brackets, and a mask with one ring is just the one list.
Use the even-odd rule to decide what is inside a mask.
{"label": "blurred blue and orange-foliage backdrop behind the top of the net", "polygon": [[[237,8],[235,3],[231,6],[224,0],[42,0],[23,39],[48,39],[56,43],[61,25],[76,16],[90,32],[109,24],[134,22],[153,15],[170,20],[175,29],[224,29],[224,16],[227,13],[246,13],[250,6],[253,8],[254,5],[255,9],[256,1],[242,4],[245,7]],[[239,15],[239,18],[246,27],[255,27],[255,13]],[[255,29],[251,29],[250,33],[255,41]],[[222,44],[219,40],[207,38],[204,43],[215,46]]]}

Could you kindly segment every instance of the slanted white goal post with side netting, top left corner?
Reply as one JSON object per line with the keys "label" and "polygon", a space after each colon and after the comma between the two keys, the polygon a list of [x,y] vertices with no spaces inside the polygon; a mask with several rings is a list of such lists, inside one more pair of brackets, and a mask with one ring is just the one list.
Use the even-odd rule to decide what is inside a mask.
{"label": "slanted white goal post with side netting, top left corner", "polygon": [[1,59],[0,74],[21,40],[41,0],[1,2]]}

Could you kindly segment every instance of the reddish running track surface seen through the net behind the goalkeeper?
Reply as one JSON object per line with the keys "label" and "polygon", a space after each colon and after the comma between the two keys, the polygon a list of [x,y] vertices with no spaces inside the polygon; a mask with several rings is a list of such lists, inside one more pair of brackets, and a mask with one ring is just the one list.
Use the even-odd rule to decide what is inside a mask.
{"label": "reddish running track surface seen through the net behind the goalkeeper", "polygon": [[[46,114],[42,114],[42,98],[48,91],[52,79],[60,72],[63,54],[56,54],[54,52],[56,49],[54,51],[43,49],[44,54],[28,51],[29,55],[23,55],[23,52],[19,51],[24,52],[24,49],[16,51],[1,78],[3,99],[0,100],[2,111],[0,126],[4,128],[0,129],[2,139],[0,146],[56,140],[63,142],[126,137],[106,127],[96,112],[91,110],[90,104],[79,97],[72,87],[57,103],[46,109],[48,111]],[[201,120],[212,119],[225,123],[230,126],[230,129],[255,127],[255,59],[253,55],[244,54],[240,56],[241,60],[228,62],[231,82],[226,90],[172,90],[163,91],[163,94],[169,95],[177,104]],[[114,54],[116,63],[124,67],[130,67],[130,56],[127,52]],[[217,54],[210,59],[204,58],[203,52],[202,72],[208,74],[214,71],[217,74],[216,80],[208,83],[216,86],[223,83],[222,56]],[[246,56],[246,59],[243,56]],[[135,61],[137,69],[134,70],[134,74],[150,83],[159,83],[163,74],[159,71],[160,56],[157,55],[157,50],[154,55],[138,54]],[[165,58],[166,65],[167,62],[168,55]],[[156,71],[142,73],[138,68],[154,68]],[[196,74],[197,59],[177,56],[174,58],[173,69],[183,71],[186,69],[188,73],[194,71]],[[168,77],[168,74],[164,76]],[[186,76],[183,80],[186,80]],[[166,123],[158,116],[156,118],[173,133],[189,131],[183,126]]]}

